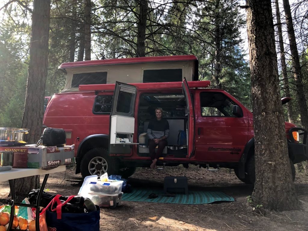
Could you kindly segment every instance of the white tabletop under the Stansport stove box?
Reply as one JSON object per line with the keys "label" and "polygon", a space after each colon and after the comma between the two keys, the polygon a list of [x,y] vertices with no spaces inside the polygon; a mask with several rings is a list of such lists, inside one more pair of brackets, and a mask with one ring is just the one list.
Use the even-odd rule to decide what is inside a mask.
{"label": "white tabletop under the Stansport stove box", "polygon": [[13,180],[27,176],[45,175],[55,172],[64,172],[65,170],[65,165],[61,165],[51,170],[44,170],[41,168],[12,168],[9,171],[0,172],[0,181]]}

